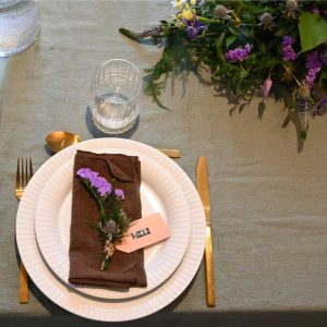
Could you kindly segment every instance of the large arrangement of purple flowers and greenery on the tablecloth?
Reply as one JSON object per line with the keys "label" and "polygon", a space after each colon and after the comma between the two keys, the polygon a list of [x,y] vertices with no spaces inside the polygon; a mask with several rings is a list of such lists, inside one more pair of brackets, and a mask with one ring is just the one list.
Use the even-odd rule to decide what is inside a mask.
{"label": "large arrangement of purple flowers and greenery on the tablecloth", "polygon": [[201,81],[209,71],[215,89],[233,94],[240,105],[258,88],[266,99],[272,84],[281,84],[292,97],[286,101],[288,118],[298,117],[303,142],[307,116],[320,114],[327,107],[315,92],[317,86],[327,90],[327,1],[171,3],[178,11],[170,22],[138,34],[120,28],[136,41],[153,37],[164,45],[161,59],[147,70],[145,92],[165,108],[159,100],[165,87],[160,78],[182,75],[184,70],[197,70]]}

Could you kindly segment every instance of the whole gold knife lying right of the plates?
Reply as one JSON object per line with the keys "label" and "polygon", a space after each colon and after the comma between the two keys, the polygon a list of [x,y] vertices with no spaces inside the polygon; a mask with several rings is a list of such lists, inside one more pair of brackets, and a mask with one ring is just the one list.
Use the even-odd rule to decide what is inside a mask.
{"label": "whole gold knife lying right of the plates", "polygon": [[206,157],[199,157],[197,164],[197,192],[199,194],[206,216],[206,247],[205,247],[205,274],[207,306],[216,306],[216,290],[214,276],[214,257],[210,222],[210,198],[208,182],[208,164]]}

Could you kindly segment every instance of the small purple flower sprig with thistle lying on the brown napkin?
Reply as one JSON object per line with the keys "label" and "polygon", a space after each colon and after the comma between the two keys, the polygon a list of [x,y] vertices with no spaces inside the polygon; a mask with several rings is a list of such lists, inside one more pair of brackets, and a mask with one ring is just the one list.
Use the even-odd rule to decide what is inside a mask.
{"label": "small purple flower sprig with thistle lying on the brown napkin", "polygon": [[[124,237],[131,222],[120,204],[125,198],[125,194],[123,190],[114,189],[113,183],[109,183],[90,168],[78,169],[76,175],[97,199],[100,208],[99,221],[95,228],[104,241],[100,270],[106,270],[114,253],[114,242]],[[107,201],[109,208],[106,205]]]}

